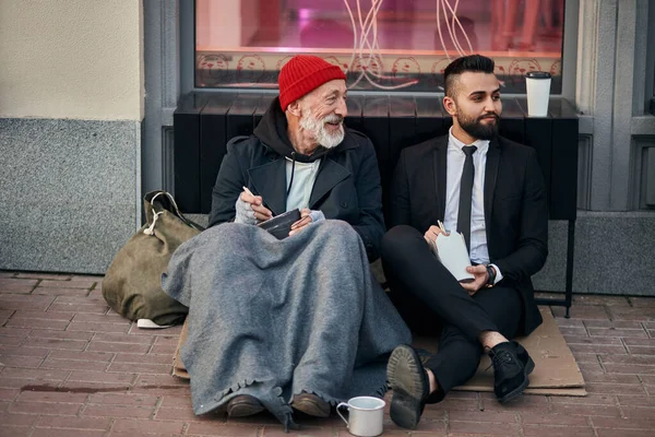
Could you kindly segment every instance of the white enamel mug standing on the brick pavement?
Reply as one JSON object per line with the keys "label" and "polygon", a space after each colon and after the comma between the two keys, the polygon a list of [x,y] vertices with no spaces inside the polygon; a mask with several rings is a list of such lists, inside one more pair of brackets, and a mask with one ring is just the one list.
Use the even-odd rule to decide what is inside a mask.
{"label": "white enamel mug standing on the brick pavement", "polygon": [[[336,413],[346,423],[348,432],[358,437],[374,437],[382,434],[385,402],[380,398],[357,397],[336,405]],[[340,411],[348,408],[348,420]]]}

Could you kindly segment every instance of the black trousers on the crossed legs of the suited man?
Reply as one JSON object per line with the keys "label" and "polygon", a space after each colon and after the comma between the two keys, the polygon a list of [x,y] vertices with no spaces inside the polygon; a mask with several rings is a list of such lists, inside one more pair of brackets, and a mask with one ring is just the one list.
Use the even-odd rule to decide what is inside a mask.
{"label": "black trousers on the crossed legs of the suited man", "polygon": [[501,281],[469,296],[415,228],[389,231],[382,240],[382,261],[391,298],[412,331],[440,333],[439,350],[426,364],[439,383],[428,402],[441,401],[475,375],[483,354],[481,332],[498,331],[508,339],[516,334],[523,316],[520,292]]}

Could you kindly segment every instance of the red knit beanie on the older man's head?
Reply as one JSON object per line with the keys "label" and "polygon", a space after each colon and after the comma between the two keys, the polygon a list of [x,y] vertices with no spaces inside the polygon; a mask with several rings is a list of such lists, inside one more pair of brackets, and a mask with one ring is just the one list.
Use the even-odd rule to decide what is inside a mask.
{"label": "red knit beanie on the older man's head", "polygon": [[335,79],[346,80],[341,68],[317,56],[297,55],[293,57],[279,71],[279,106],[282,110],[318,88],[325,82]]}

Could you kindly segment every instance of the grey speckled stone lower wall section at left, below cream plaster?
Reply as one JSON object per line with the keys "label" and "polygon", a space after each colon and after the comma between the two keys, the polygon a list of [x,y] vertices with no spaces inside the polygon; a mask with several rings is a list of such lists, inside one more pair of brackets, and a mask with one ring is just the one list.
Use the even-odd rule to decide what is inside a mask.
{"label": "grey speckled stone lower wall section at left, below cream plaster", "polygon": [[141,222],[141,123],[0,119],[0,269],[104,273]]}

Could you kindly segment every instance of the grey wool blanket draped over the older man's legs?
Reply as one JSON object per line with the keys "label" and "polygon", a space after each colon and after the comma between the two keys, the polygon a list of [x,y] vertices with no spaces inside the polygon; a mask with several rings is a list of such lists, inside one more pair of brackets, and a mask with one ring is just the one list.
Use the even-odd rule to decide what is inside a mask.
{"label": "grey wool blanket draped over the older man's legs", "polygon": [[250,394],[296,427],[294,394],[332,404],[382,395],[389,353],[410,342],[342,221],[284,240],[252,225],[212,227],[176,250],[163,286],[189,307],[181,358],[199,415]]}

